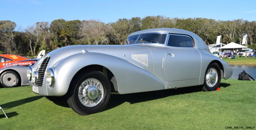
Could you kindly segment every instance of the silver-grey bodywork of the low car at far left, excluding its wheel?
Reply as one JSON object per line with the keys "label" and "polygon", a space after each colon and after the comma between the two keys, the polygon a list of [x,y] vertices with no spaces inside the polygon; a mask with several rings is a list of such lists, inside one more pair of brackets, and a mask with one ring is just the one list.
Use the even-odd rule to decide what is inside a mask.
{"label": "silver-grey bodywork of the low car at far left, excluding its wheel", "polygon": [[[28,59],[28,60],[22,60],[18,62],[23,62],[23,61],[37,61],[39,59]],[[15,64],[16,62],[12,63]],[[8,70],[14,71],[20,75],[20,80],[21,80],[21,85],[29,85],[28,78],[27,78],[27,68],[28,66],[9,66],[0,69],[0,75]]]}

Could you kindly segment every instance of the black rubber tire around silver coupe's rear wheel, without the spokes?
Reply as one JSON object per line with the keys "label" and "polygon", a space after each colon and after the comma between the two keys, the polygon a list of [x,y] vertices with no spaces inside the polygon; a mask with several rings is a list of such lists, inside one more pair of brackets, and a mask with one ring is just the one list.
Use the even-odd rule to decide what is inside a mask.
{"label": "black rubber tire around silver coupe's rear wheel, without the spokes", "polygon": [[[208,86],[206,83],[206,74],[208,72],[209,69],[214,68],[217,71],[217,81],[216,84],[213,85],[212,87]],[[220,73],[220,66],[217,63],[212,63],[210,65],[208,65],[205,75],[204,75],[204,84],[203,84],[203,91],[215,91],[218,89],[218,87],[220,86],[220,80],[221,80],[221,73]]]}

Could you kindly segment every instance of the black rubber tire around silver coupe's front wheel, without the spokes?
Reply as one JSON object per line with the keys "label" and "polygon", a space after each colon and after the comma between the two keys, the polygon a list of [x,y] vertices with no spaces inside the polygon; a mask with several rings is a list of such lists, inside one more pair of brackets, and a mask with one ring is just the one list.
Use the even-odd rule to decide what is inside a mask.
{"label": "black rubber tire around silver coupe's front wheel, without the spokes", "polygon": [[[98,104],[92,107],[85,106],[82,104],[78,97],[78,91],[80,85],[87,79],[94,78],[96,80],[99,80],[102,84],[103,88],[103,97],[99,101]],[[89,89],[89,88],[88,88]],[[87,90],[88,90],[87,89]],[[87,93],[86,90],[86,93]],[[74,110],[76,113],[80,115],[89,115],[93,113],[97,113],[102,111],[106,105],[108,104],[108,101],[110,99],[111,95],[111,86],[109,83],[109,80],[107,76],[100,72],[100,71],[94,71],[89,72],[87,74],[79,74],[76,77],[74,77],[74,81],[71,81],[71,84],[69,86],[68,93],[66,94],[68,105],[72,110]]]}

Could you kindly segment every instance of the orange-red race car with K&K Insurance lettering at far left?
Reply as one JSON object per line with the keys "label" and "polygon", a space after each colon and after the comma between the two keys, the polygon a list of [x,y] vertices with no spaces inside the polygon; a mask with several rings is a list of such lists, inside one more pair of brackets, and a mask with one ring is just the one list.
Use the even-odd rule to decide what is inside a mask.
{"label": "orange-red race car with K&K Insurance lettering at far left", "polygon": [[27,60],[28,58],[17,56],[17,55],[0,55],[1,64],[0,68],[4,65],[9,65],[13,62],[21,61],[21,60]]}

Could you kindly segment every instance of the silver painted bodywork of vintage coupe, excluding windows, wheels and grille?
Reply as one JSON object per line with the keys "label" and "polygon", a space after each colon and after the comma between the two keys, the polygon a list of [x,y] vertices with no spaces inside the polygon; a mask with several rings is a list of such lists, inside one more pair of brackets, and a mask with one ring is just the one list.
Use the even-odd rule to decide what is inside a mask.
{"label": "silver painted bodywork of vintage coupe, excluding windows, wheels and grille", "polygon": [[[47,54],[51,57],[47,68],[54,70],[55,84],[49,87],[44,75],[42,87],[37,86],[39,95],[65,95],[74,75],[88,65],[101,65],[111,71],[116,78],[115,90],[119,94],[202,85],[206,69],[214,60],[223,67],[223,79],[232,75],[231,66],[213,56],[196,34],[181,29],[157,28],[129,36],[145,33],[167,34],[165,44],[75,45],[53,50]],[[195,42],[195,48],[166,46],[169,33],[189,35]],[[36,64],[32,66],[34,71]],[[31,82],[30,85],[35,86]]]}

